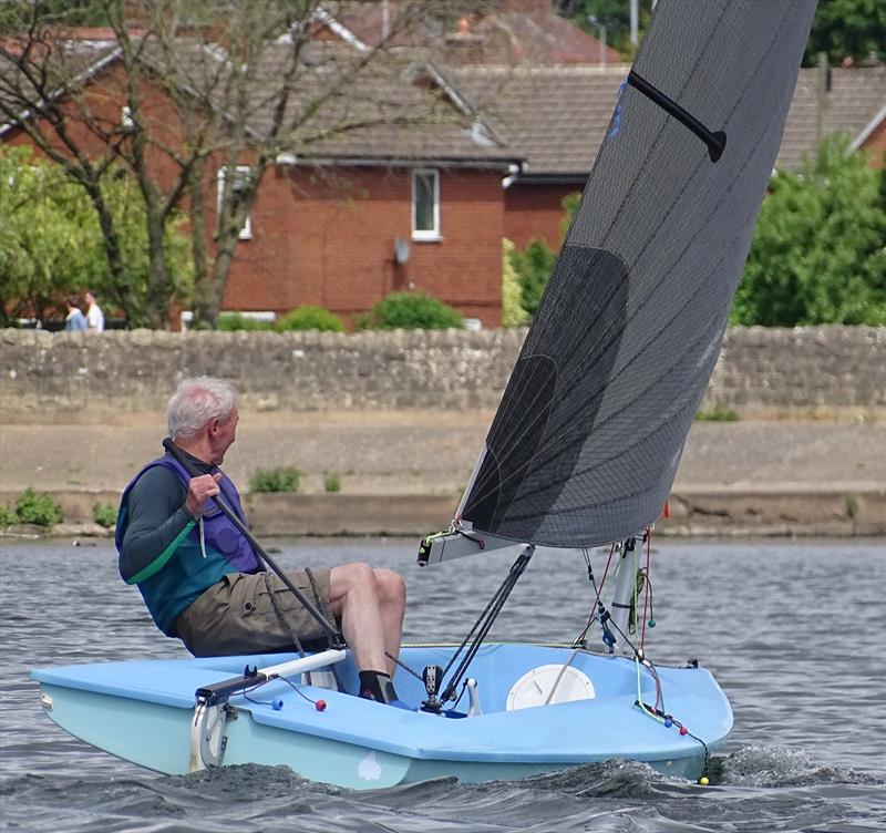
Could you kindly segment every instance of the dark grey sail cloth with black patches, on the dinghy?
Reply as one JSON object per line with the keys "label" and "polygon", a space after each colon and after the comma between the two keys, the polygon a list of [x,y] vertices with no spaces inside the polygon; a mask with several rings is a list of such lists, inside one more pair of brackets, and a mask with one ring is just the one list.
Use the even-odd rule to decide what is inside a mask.
{"label": "dark grey sail cloth with black patches, on the dinghy", "polygon": [[[713,371],[814,0],[659,0],[461,507],[594,546],[661,513]],[[580,105],[576,102],[576,105]]]}

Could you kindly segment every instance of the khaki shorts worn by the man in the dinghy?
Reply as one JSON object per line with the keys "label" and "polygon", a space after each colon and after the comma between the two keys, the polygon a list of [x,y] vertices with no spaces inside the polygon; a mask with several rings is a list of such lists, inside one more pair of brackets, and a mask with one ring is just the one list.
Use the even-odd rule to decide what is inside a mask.
{"label": "khaki shorts worn by the man in the dinghy", "polygon": [[[330,573],[330,569],[310,570],[316,592],[307,570],[292,570],[287,576],[334,626],[329,613]],[[285,621],[280,621],[281,616]],[[204,590],[178,616],[175,627],[195,657],[295,650],[292,634],[302,645],[327,636],[274,573],[229,573]]]}

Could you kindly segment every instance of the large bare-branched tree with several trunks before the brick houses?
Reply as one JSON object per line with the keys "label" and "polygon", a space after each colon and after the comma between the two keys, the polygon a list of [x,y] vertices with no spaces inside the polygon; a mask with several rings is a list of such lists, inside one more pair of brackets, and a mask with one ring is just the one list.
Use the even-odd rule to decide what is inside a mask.
{"label": "large bare-branched tree with several trunks before the brick houses", "polygon": [[379,100],[372,84],[402,76],[405,66],[389,60],[401,31],[461,6],[392,4],[385,35],[356,49],[316,40],[319,0],[81,0],[76,20],[103,16],[113,32],[96,60],[78,48],[69,12],[53,12],[58,3],[11,0],[3,18],[17,33],[0,41],[0,115],[89,193],[117,275],[120,233],[102,183],[114,163],[131,172],[144,202],[154,327],[168,322],[173,297],[165,230],[186,206],[195,318],[215,326],[241,229],[281,154],[297,158],[380,124],[454,116],[431,96],[419,107],[409,95]]}

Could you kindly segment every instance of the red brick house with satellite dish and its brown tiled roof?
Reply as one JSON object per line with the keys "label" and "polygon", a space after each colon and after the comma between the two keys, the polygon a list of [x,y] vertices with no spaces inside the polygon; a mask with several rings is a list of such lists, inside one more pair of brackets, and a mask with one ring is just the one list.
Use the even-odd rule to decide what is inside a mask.
{"label": "red brick house with satellite dish and its brown tiled roof", "polygon": [[[83,101],[93,119],[113,127],[125,119],[126,80],[102,34],[81,44],[92,56],[82,70]],[[143,117],[167,144],[181,143],[164,94],[150,79],[140,84]],[[349,319],[391,291],[415,290],[482,326],[499,326],[502,181],[519,158],[455,97],[439,93],[436,75],[396,64],[373,74],[353,100],[396,102],[437,117],[374,124],[280,153],[240,233],[223,309],[279,316],[316,304]],[[255,113],[257,120],[265,115],[260,105]],[[76,119],[69,130],[96,155],[106,150]],[[31,142],[14,123],[0,125],[0,141]],[[161,182],[172,181],[172,164],[154,155]],[[214,200],[206,204],[212,213]],[[215,218],[207,220],[213,228]]]}

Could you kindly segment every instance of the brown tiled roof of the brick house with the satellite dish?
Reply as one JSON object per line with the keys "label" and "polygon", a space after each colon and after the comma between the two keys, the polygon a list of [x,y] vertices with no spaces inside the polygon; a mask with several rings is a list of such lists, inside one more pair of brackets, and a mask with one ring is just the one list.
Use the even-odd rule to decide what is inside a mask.
{"label": "brown tiled roof of the brick house with the satellite dish", "polygon": [[[101,49],[96,47],[99,43]],[[112,44],[82,41],[66,56],[60,53],[55,65],[56,94],[64,94],[66,89],[62,83],[63,69],[75,73],[79,83],[95,80],[100,70],[120,58],[120,50],[111,49]],[[212,90],[209,99],[222,104],[217,91],[224,84],[218,83],[218,70],[226,66],[227,55],[220,48],[181,38],[174,54],[161,52],[151,42],[143,44],[141,54],[148,69],[174,64],[174,72],[167,74],[177,78],[181,88],[195,101],[203,97],[204,90]],[[255,68],[250,100],[243,111],[228,112],[228,117],[245,122],[257,137],[269,133],[276,105],[271,91],[279,84],[290,56],[291,47],[286,42],[269,44]],[[354,76],[354,66],[361,60],[359,52],[341,42],[315,44],[303,54],[298,84],[286,111],[287,121],[298,126],[280,142],[280,152],[290,158],[295,154],[299,160],[338,164],[374,160],[388,165],[420,162],[506,169],[519,161],[481,116],[468,114],[466,107],[460,109],[452,95],[441,95],[439,85],[431,83],[427,73],[415,64],[380,54],[369,71]],[[267,84],[262,79],[267,79]],[[0,61],[0,95],[8,103],[4,89],[10,82],[12,85],[22,82],[22,76],[17,74],[14,64]],[[27,86],[27,81],[23,83]],[[311,104],[329,89],[336,92],[323,106],[300,117],[299,110],[310,111]],[[123,91],[112,92],[117,93],[122,95]],[[21,106],[12,109],[29,115]],[[109,130],[113,126],[109,125]],[[9,127],[0,125],[0,135]]]}

